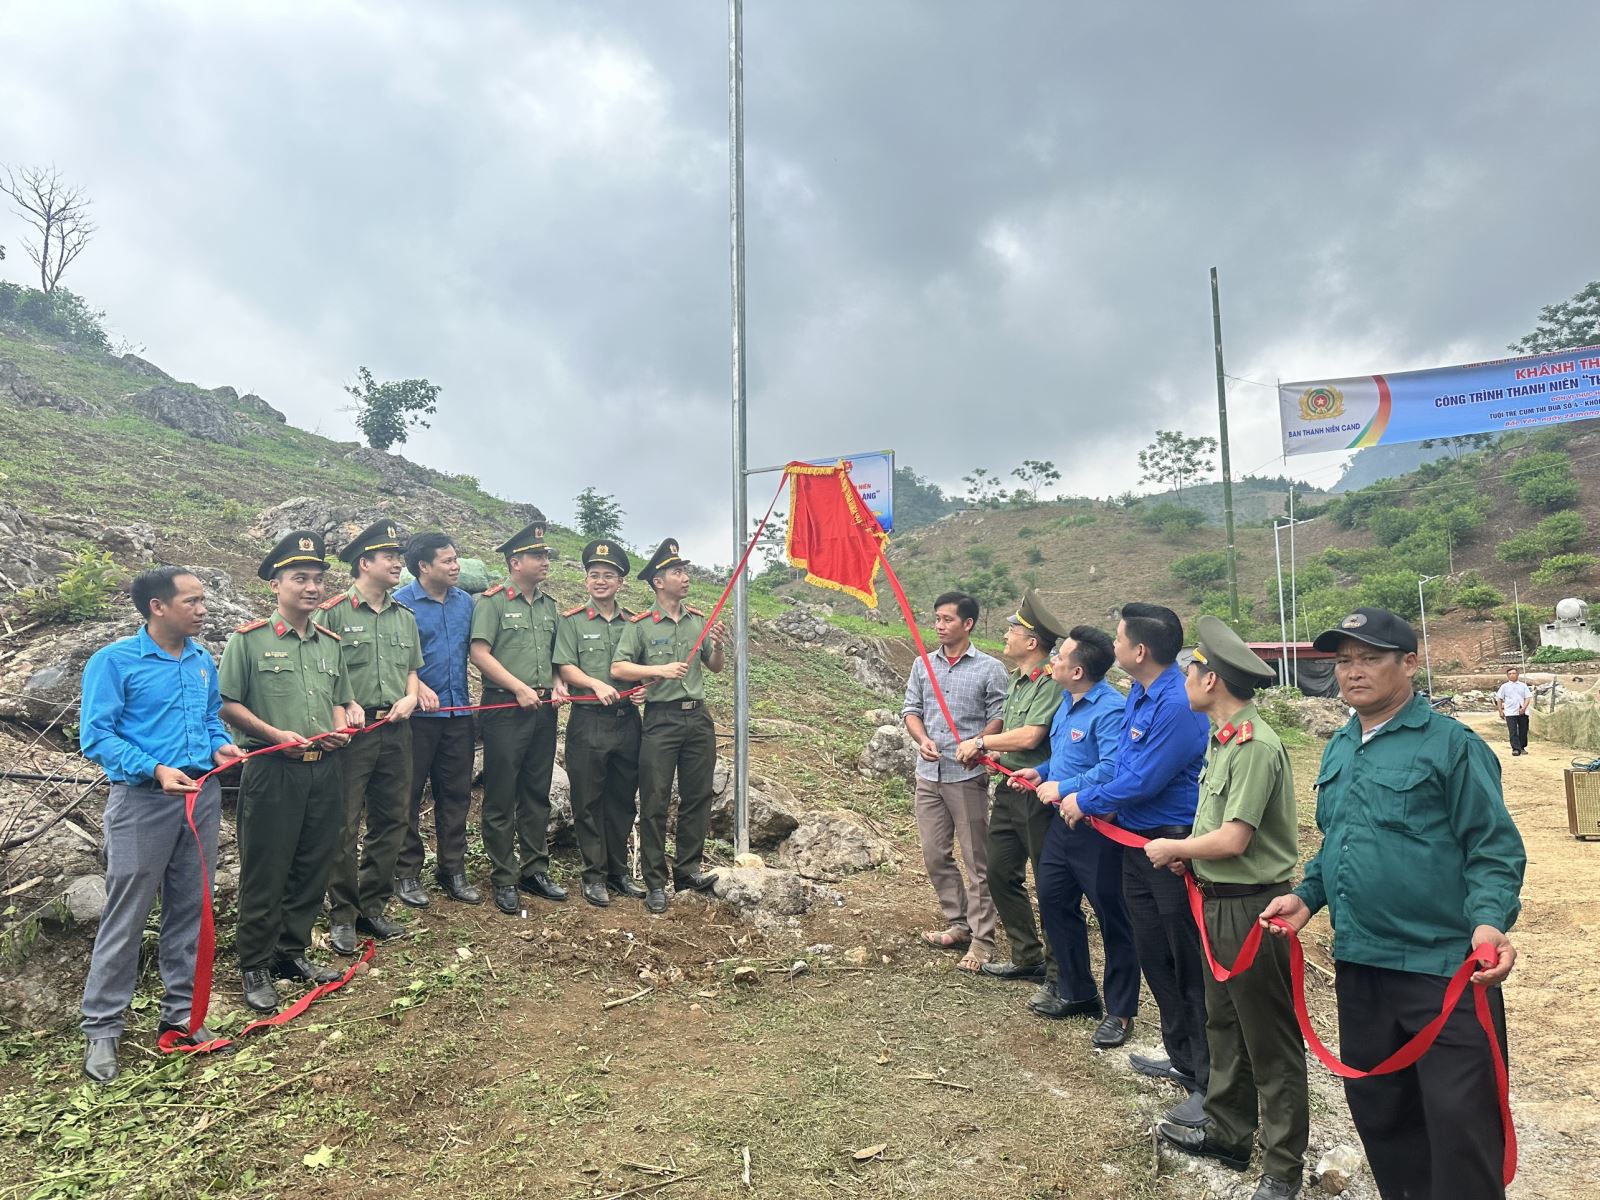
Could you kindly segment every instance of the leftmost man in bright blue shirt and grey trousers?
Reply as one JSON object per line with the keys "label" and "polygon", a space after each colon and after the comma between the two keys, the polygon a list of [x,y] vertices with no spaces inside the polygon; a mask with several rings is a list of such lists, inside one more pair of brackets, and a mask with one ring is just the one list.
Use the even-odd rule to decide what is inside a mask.
{"label": "leftmost man in bright blue shirt and grey trousers", "polygon": [[[205,584],[182,566],[144,571],[133,581],[144,629],[102,646],[83,667],[78,744],[110,779],[106,803],[106,912],[83,982],[83,1074],[117,1078],[117,1050],[139,973],[139,942],[162,896],[160,1034],[187,1030],[194,1002],[200,906],[200,854],[186,819],[195,795],[195,829],[205,843],[206,878],[216,864],[222,789],[195,779],[238,758],[222,726],[216,664],[195,642],[205,627]],[[208,1042],[197,1029],[194,1040]],[[187,1040],[187,1038],[186,1038]]]}

